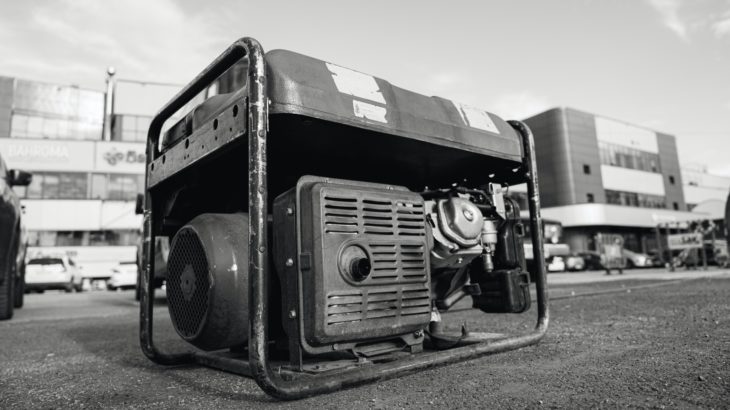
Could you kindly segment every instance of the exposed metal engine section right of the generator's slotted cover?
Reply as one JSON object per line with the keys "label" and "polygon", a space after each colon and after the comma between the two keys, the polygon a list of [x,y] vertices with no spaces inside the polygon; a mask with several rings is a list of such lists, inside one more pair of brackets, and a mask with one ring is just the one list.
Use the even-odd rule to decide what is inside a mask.
{"label": "exposed metal engine section right of the generator's slotted cover", "polygon": [[478,300],[490,299],[480,296],[486,282],[493,283],[494,277],[505,279],[506,288],[500,291],[516,292],[520,301],[500,307],[500,311],[522,312],[529,308],[529,296],[524,293],[529,281],[521,275],[524,229],[519,222],[519,208],[511,199],[505,199],[500,185],[490,183],[486,188],[482,191],[455,186],[422,194],[433,238],[432,291],[440,310],[471,295],[475,307],[491,311],[493,306]]}

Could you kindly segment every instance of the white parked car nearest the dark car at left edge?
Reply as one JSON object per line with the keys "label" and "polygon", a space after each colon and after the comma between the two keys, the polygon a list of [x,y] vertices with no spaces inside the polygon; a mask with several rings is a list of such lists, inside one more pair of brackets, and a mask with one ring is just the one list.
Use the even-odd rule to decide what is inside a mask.
{"label": "white parked car nearest the dark car at left edge", "polygon": [[59,289],[81,292],[81,273],[66,255],[51,255],[28,261],[25,268],[25,290],[44,292]]}

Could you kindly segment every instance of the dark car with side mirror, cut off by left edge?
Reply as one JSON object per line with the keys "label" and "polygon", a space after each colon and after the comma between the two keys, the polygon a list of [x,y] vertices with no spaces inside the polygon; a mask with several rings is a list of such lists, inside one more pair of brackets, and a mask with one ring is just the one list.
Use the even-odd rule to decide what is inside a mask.
{"label": "dark car with side mirror, cut off by left edge", "polygon": [[0,156],[0,320],[13,317],[23,306],[25,249],[23,210],[14,186],[27,186],[33,176],[11,170]]}

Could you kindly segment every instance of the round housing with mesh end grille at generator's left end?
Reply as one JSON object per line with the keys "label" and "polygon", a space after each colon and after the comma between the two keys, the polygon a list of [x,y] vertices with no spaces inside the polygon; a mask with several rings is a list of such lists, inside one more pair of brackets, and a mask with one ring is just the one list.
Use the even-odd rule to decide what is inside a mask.
{"label": "round housing with mesh end grille at generator's left end", "polygon": [[175,234],[167,303],[177,333],[203,350],[248,340],[248,214],[202,214]]}

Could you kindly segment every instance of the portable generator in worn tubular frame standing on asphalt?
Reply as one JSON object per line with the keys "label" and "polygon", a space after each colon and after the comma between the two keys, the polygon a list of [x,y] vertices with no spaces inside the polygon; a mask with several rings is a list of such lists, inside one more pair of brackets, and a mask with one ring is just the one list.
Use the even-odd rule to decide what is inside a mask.
{"label": "portable generator in worn tubular frame standing on asphalt", "polygon": [[[154,117],[146,165],[140,339],[157,363],[248,375],[296,399],[547,330],[534,143],[520,122],[243,38]],[[525,227],[505,192],[519,183],[537,325],[449,330],[442,313],[460,301],[531,307]],[[153,237],[170,239],[168,309],[189,351],[153,341]]]}

